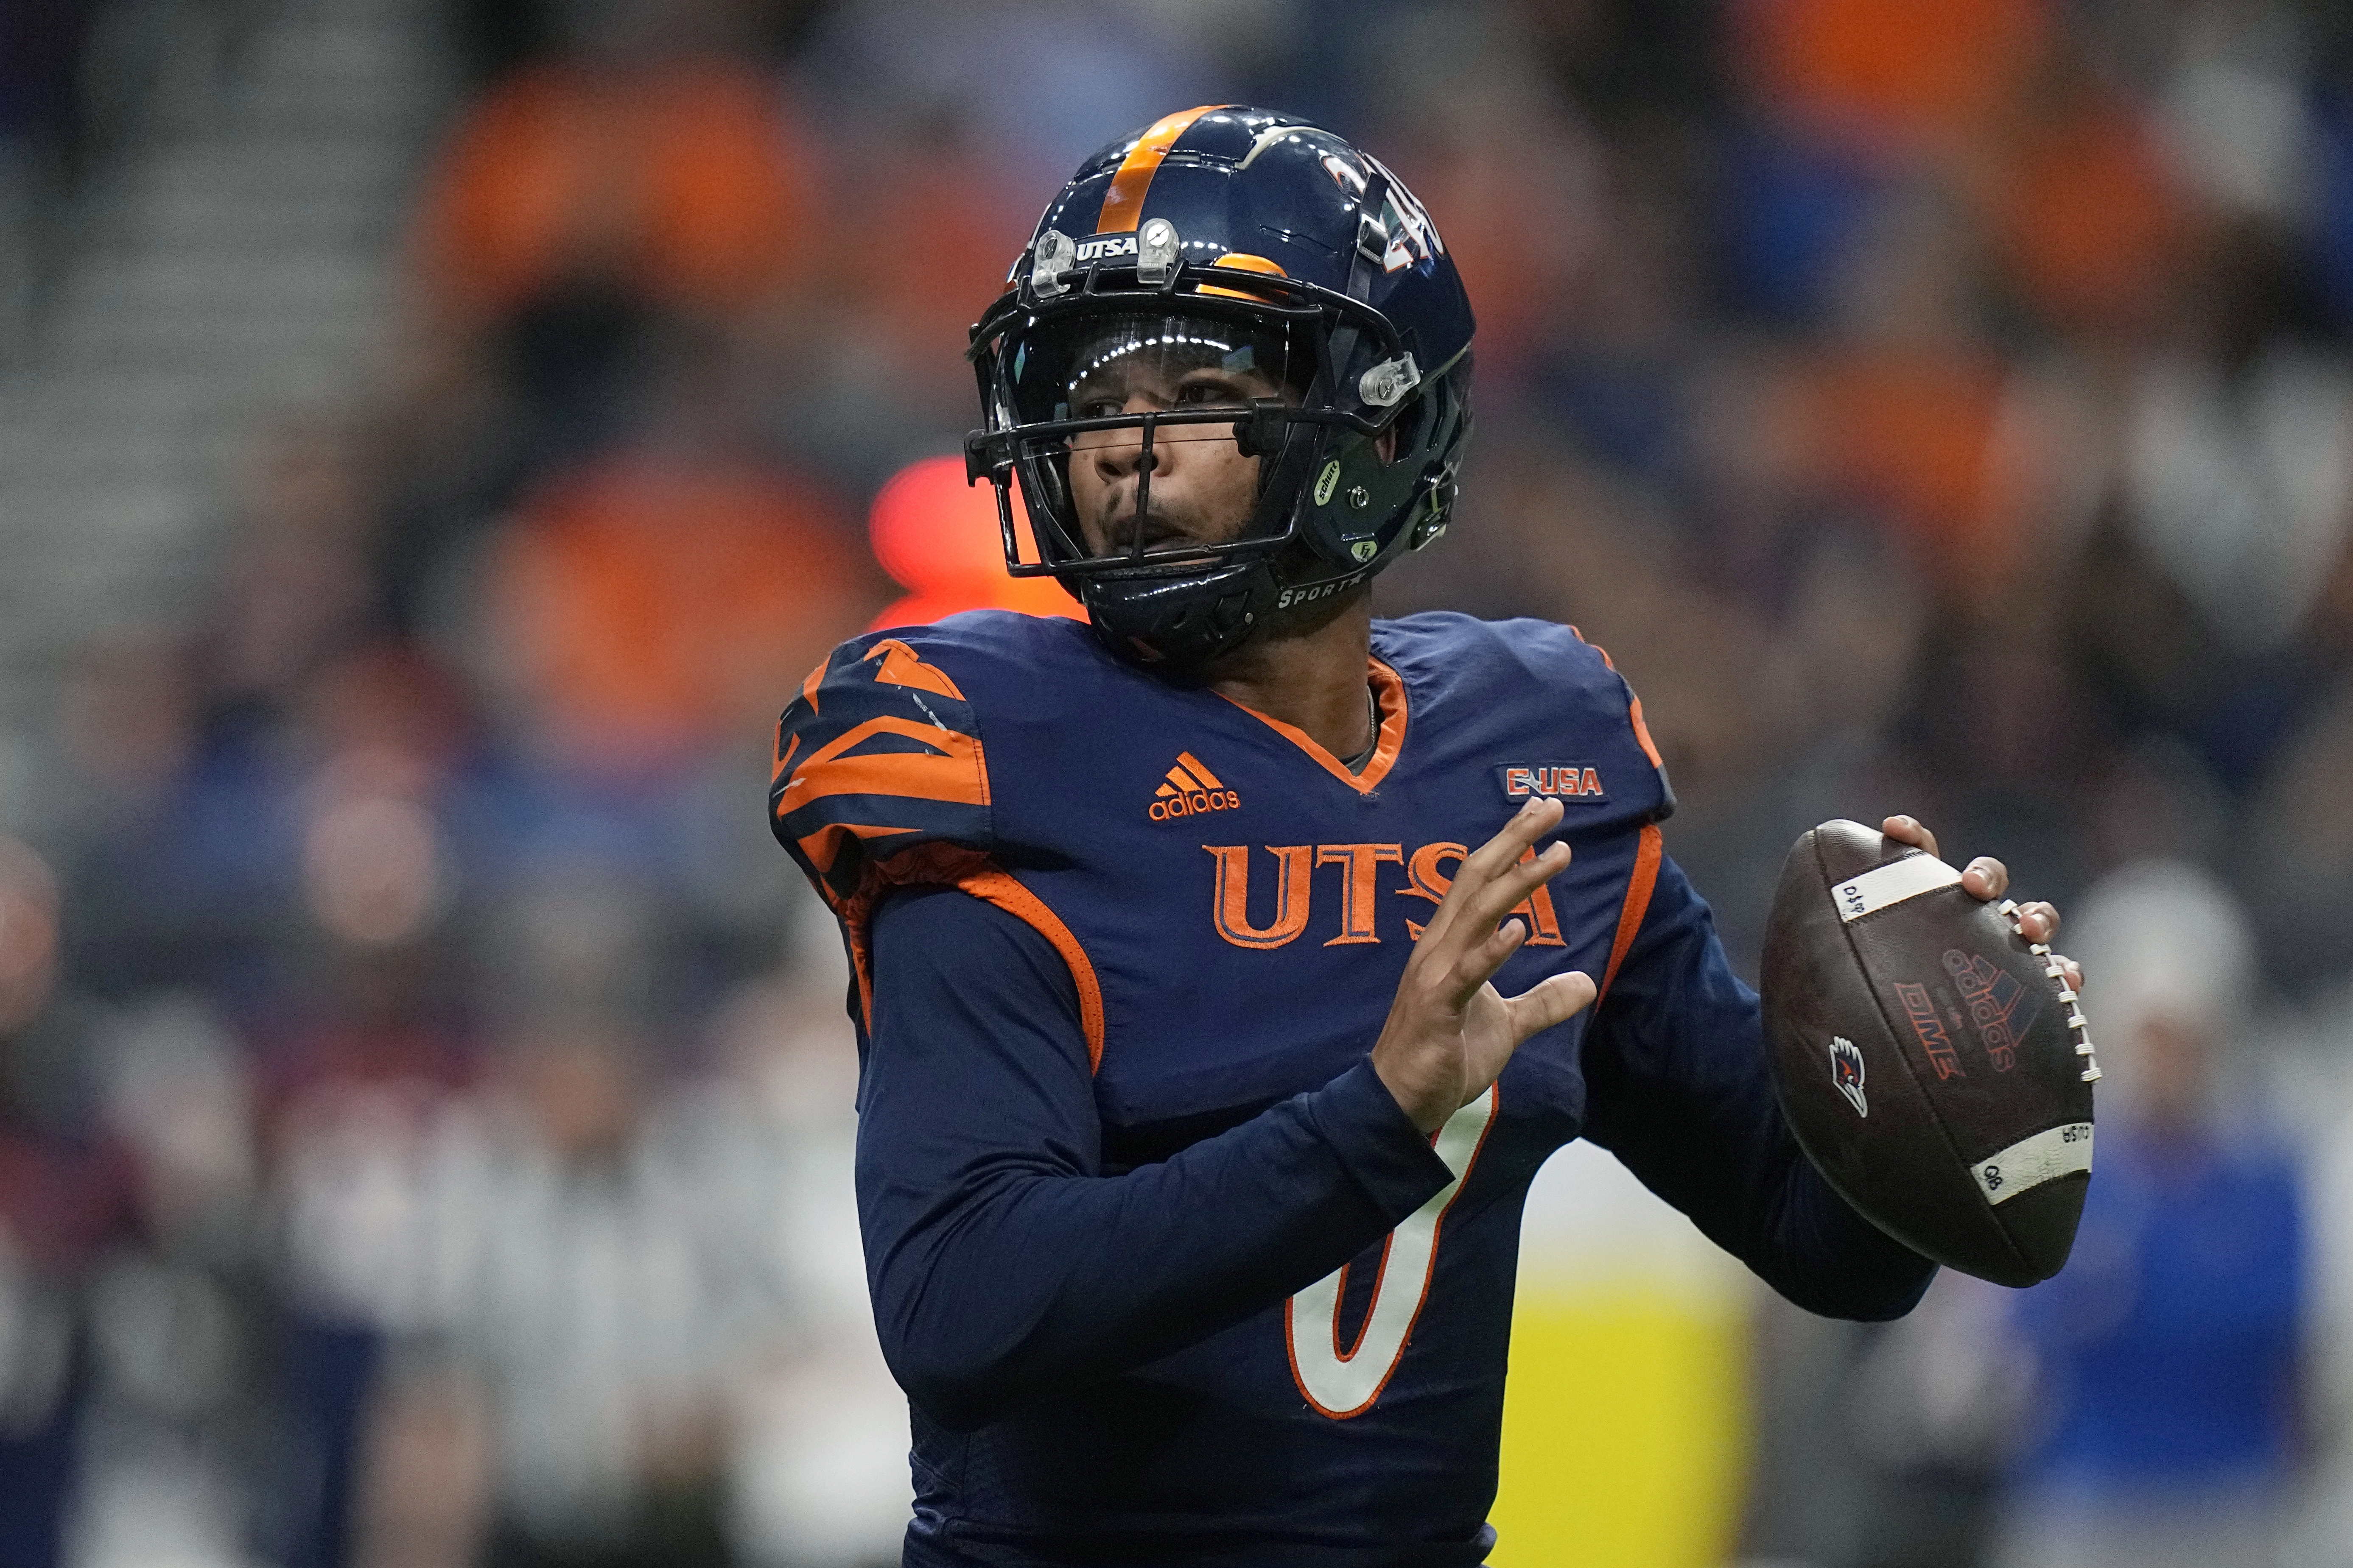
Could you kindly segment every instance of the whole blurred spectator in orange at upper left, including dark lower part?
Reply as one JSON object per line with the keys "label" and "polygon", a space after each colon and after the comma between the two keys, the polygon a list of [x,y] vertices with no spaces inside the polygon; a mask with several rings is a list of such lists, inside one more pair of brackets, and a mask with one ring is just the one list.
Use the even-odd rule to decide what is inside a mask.
{"label": "whole blurred spectator in orange at upper left, including dark lower part", "polygon": [[412,221],[384,550],[405,628],[440,550],[626,437],[680,341],[722,364],[805,336],[824,259],[814,146],[729,52],[734,7],[541,16],[555,47],[468,106]]}

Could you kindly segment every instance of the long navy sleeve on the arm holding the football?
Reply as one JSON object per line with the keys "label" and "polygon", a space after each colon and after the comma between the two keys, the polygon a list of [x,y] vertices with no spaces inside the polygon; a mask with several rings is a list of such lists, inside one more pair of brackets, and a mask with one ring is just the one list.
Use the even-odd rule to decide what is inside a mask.
{"label": "long navy sleeve on the arm holding the football", "polygon": [[1781,1117],[1765,1018],[1666,860],[1586,1032],[1586,1138],[1774,1291],[1824,1316],[1911,1312],[1937,1265],[1847,1208]]}

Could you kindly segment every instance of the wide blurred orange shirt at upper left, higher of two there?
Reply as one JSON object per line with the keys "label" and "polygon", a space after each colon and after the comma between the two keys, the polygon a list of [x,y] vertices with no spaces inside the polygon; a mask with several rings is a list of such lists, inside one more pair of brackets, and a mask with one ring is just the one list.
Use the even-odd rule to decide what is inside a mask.
{"label": "wide blurred orange shirt at upper left, higher of two there", "polygon": [[461,317],[609,277],[729,310],[809,254],[807,158],[769,85],[732,61],[539,66],[494,87],[426,186],[419,268]]}

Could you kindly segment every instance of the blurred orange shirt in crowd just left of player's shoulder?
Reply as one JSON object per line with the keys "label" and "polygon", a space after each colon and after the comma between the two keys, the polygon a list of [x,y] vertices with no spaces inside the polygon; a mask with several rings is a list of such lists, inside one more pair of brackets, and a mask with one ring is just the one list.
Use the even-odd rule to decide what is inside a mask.
{"label": "blurred orange shirt in crowd just left of player's shoulder", "polygon": [[659,458],[541,489],[499,541],[487,595],[501,677],[586,769],[758,729],[873,604],[814,487]]}

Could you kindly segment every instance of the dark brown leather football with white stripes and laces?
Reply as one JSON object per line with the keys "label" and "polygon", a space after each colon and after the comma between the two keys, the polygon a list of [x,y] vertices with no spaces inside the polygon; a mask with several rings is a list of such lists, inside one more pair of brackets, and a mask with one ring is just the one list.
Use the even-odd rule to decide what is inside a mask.
{"label": "dark brown leather football with white stripes and laces", "polygon": [[1765,931],[1765,1048],[1798,1143],[1925,1258],[2031,1286],[2092,1180],[2082,1006],[2012,905],[1859,823],[1798,837]]}

